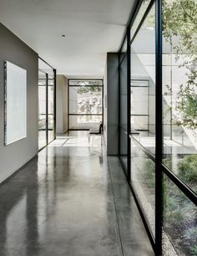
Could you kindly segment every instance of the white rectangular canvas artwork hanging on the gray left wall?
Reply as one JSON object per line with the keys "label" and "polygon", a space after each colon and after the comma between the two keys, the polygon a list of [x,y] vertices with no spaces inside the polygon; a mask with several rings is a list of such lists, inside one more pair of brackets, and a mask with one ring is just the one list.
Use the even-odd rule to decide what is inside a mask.
{"label": "white rectangular canvas artwork hanging on the gray left wall", "polygon": [[5,145],[27,137],[27,70],[5,61]]}

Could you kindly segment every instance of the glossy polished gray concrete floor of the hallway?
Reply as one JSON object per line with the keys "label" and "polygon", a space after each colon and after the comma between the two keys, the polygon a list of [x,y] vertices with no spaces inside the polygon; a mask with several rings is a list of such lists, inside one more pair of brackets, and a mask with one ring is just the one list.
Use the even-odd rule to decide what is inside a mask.
{"label": "glossy polished gray concrete floor of the hallway", "polygon": [[154,255],[119,159],[59,136],[0,187],[0,255]]}

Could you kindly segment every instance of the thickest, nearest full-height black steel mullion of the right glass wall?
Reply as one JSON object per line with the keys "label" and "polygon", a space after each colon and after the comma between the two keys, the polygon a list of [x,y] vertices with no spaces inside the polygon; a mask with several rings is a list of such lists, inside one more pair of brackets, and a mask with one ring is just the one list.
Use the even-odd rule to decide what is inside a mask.
{"label": "thickest, nearest full-height black steel mullion of the right glass wall", "polygon": [[162,224],[163,224],[163,187],[162,187],[162,3],[155,1],[155,249],[156,255],[162,255]]}

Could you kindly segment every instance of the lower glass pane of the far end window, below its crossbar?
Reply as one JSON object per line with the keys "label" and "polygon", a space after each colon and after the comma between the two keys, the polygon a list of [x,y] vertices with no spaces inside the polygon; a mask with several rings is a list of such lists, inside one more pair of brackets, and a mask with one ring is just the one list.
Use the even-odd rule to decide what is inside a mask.
{"label": "lower glass pane of the far end window, below its crossbar", "polygon": [[73,130],[89,130],[100,122],[102,115],[69,115],[69,129]]}

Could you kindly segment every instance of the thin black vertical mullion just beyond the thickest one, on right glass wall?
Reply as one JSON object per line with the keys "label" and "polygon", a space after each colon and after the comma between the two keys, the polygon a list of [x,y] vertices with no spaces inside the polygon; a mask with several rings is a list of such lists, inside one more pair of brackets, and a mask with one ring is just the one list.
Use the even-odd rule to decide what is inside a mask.
{"label": "thin black vertical mullion just beyond the thickest one, on right glass wall", "polygon": [[131,121],[130,121],[130,95],[131,95],[131,89],[130,89],[130,81],[131,81],[131,71],[130,71],[130,65],[131,65],[131,60],[130,60],[130,28],[127,28],[127,166],[128,166],[128,181],[130,182],[131,180],[131,145],[130,145],[130,137],[129,133],[131,131]]}

